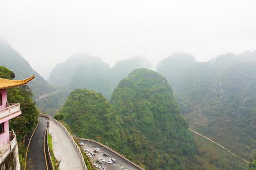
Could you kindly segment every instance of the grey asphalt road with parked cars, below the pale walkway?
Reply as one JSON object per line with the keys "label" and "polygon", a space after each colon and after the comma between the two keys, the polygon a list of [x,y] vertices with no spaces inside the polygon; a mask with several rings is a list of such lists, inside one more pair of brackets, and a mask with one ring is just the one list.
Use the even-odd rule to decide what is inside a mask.
{"label": "grey asphalt road with parked cars, below the pale walkway", "polygon": [[[139,170],[136,167],[134,167],[132,164],[129,162],[123,160],[121,157],[116,155],[115,153],[110,152],[108,149],[105,149],[99,144],[95,144],[90,141],[84,141],[84,140],[79,140],[81,143],[84,143],[84,146],[82,146],[83,149],[89,149],[90,152],[93,152],[94,148],[100,148],[101,151],[99,153],[96,153],[95,156],[91,158],[92,163],[95,163],[96,160],[98,160],[100,157],[104,158],[105,160],[108,160],[110,158],[115,158],[117,161],[114,164],[108,164],[108,163],[103,163],[103,166],[106,166],[108,170]],[[102,156],[103,153],[108,153],[110,156],[109,157],[104,157]],[[100,163],[97,163],[98,165],[101,165]]]}

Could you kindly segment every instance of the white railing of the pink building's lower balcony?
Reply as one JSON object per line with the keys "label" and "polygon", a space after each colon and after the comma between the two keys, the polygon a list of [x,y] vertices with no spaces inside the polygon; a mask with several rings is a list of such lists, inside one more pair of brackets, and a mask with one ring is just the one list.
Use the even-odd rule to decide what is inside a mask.
{"label": "white railing of the pink building's lower balcony", "polygon": [[5,160],[5,158],[13,152],[13,149],[15,148],[15,146],[17,145],[17,140],[16,140],[16,135],[14,134],[13,130],[9,131],[9,136],[10,136],[10,140],[7,144],[8,146],[2,146],[5,149],[1,150],[0,147],[0,164]]}

